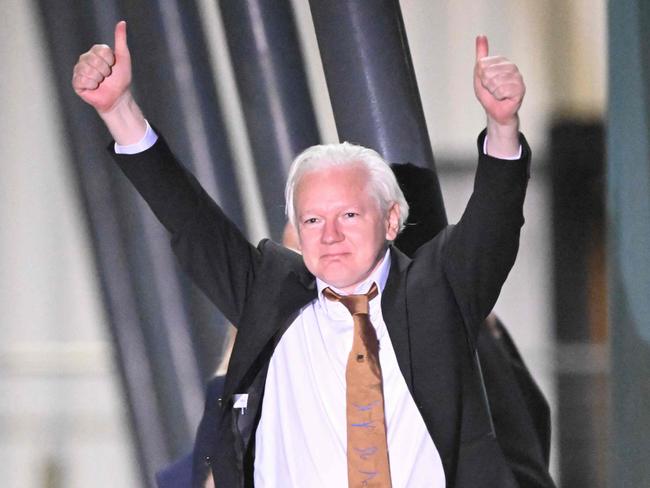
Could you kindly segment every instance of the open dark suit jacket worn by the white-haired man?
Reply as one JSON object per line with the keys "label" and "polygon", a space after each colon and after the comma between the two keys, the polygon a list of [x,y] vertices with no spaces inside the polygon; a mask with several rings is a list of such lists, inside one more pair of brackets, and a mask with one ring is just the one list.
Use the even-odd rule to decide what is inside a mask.
{"label": "open dark suit jacket worn by the white-haired man", "polygon": [[[479,325],[514,263],[523,225],[530,149],[522,160],[483,155],[472,197],[456,226],[411,260],[391,248],[382,311],[400,370],[440,453],[447,486],[517,486],[485,409],[473,354]],[[316,297],[302,258],[283,246],[246,241],[163,140],[118,164],[172,234],[195,282],[238,324],[213,451],[219,486],[252,486],[255,427],[270,357],[299,309]],[[233,395],[248,393],[248,409]],[[217,455],[218,453],[218,455]]]}

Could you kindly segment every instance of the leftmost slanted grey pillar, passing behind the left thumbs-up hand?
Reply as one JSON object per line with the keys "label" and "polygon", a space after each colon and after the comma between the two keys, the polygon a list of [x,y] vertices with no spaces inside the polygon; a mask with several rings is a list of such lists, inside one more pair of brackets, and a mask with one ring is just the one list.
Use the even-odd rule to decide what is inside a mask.
{"label": "leftmost slanted grey pillar, passing behind the left thumbs-up hand", "polygon": [[[121,225],[125,213],[129,213],[128,203],[116,196],[117,173],[111,171],[105,150],[108,135],[97,115],[80,103],[70,87],[71,69],[79,54],[94,42],[110,42],[107,37],[98,38],[96,26],[113,22],[116,16],[111,14],[116,7],[106,2],[101,12],[95,12],[84,1],[74,0],[65,9],[59,9],[54,3],[38,2],[46,45],[50,49],[53,82],[57,86],[66,143],[88,219],[116,364],[128,402],[137,464],[143,486],[154,486],[153,472],[169,459],[170,452],[160,422],[161,411],[152,401],[156,397],[155,372],[148,358],[141,308]],[[104,14],[109,17],[103,17]]]}

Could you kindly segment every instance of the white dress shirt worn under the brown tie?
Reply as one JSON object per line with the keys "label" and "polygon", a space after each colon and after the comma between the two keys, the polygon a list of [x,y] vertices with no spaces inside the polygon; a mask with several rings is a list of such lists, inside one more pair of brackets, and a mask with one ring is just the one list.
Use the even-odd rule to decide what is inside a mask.
{"label": "white dress shirt worn under the brown tie", "polygon": [[[392,485],[443,488],[440,455],[399,370],[382,317],[390,261],[386,251],[355,293],[366,293],[373,281],[379,289],[370,301],[370,320],[380,343]],[[256,488],[347,486],[345,368],[353,322],[344,305],[323,297],[328,285],[316,283],[318,298],[301,309],[271,357],[255,437]]]}

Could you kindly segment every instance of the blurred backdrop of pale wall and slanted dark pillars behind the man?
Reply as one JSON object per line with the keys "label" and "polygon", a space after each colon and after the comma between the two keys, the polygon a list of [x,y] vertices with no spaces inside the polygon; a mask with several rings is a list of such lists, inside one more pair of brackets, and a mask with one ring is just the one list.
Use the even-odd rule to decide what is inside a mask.
{"label": "blurred backdrop of pale wall and slanted dark pillars behind the man", "polygon": [[[336,3],[2,1],[2,486],[153,486],[191,449],[226,349],[229,325],[177,269],[164,230],[113,167],[108,133],[73,93],[77,57],[112,45],[126,19],[149,120],[253,241],[279,239],[287,165],[308,145],[348,138],[355,122],[336,97],[363,76],[337,72],[340,56],[326,51]],[[475,36],[524,74],[532,179],[496,311],[551,405],[558,485],[650,486],[650,7],[379,4],[401,8],[410,100],[423,113],[424,156],[409,160],[431,166],[430,141],[450,222],[471,192],[484,126]],[[366,13],[361,25],[383,25]],[[392,71],[381,52],[349,51]],[[371,98],[373,87],[366,80]]]}

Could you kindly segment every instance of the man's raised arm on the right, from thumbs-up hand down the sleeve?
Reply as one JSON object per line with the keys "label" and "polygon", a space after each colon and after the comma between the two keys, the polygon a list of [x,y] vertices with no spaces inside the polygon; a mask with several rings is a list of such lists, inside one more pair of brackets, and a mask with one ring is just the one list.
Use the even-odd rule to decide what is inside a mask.
{"label": "man's raised arm on the right, from thumbs-up hand down the sleeve", "polygon": [[[443,257],[445,275],[472,341],[517,256],[530,165],[530,148],[519,133],[523,78],[512,62],[487,54],[487,39],[479,36],[474,89],[485,109],[487,129],[478,141],[474,191],[450,232]],[[487,154],[483,151],[485,137]],[[511,160],[520,151],[521,157]]]}

